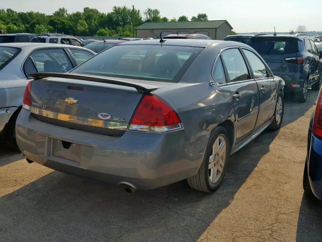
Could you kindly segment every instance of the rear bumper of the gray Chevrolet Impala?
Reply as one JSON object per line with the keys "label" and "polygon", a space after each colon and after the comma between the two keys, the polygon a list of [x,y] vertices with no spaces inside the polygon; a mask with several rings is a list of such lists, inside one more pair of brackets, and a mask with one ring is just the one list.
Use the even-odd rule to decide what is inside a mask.
{"label": "rear bumper of the gray Chevrolet Impala", "polygon": [[[203,158],[203,152],[194,147],[200,144],[190,144],[184,130],[166,134],[127,131],[111,137],[47,124],[25,109],[17,120],[16,137],[21,151],[39,164],[110,184],[126,181],[142,190],[192,176]],[[70,159],[57,155],[68,153],[63,148],[57,151],[54,143],[58,140],[75,144],[69,148],[77,149]]]}

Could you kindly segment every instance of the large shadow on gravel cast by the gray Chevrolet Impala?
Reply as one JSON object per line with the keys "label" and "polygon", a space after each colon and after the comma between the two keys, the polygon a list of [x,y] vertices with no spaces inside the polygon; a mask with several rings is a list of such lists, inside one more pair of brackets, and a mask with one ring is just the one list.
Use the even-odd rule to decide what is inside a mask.
{"label": "large shadow on gravel cast by the gray Chevrolet Impala", "polygon": [[[311,104],[302,106],[298,113],[286,112],[286,124]],[[24,242],[195,241],[230,205],[278,133],[264,131],[232,155],[223,184],[213,194],[195,191],[186,181],[127,194],[93,180],[51,172],[0,198],[0,236]]]}

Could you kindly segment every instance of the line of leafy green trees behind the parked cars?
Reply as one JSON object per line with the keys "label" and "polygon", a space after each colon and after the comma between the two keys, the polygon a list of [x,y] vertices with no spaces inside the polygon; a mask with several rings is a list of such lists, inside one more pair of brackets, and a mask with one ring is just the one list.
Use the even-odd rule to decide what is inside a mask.
{"label": "line of leafy green trees behind the parked cars", "polygon": [[[190,21],[207,21],[206,14],[193,16]],[[0,9],[0,30],[5,33],[64,33],[78,36],[134,36],[135,28],[145,22],[189,21],[187,16],[178,19],[162,17],[158,9],[140,10],[115,6],[109,13],[84,8],[83,12],[68,13],[59,8],[52,15],[39,12],[16,12]],[[133,31],[134,30],[134,31]]]}

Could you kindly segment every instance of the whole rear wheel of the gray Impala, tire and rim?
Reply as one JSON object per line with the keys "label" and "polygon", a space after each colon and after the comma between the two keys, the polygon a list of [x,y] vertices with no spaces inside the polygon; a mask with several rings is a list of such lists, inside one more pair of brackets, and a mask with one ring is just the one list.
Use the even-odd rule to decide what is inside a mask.
{"label": "whole rear wheel of the gray Impala, tire and rim", "polygon": [[210,135],[205,156],[197,174],[187,179],[191,188],[212,193],[225,176],[230,144],[225,128],[218,126]]}

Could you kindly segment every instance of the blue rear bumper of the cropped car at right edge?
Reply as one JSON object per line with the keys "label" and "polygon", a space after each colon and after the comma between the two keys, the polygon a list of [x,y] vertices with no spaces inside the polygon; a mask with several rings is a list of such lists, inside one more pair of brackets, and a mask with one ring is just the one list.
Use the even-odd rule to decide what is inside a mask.
{"label": "blue rear bumper of the cropped car at right edge", "polygon": [[307,155],[307,165],[312,192],[318,199],[322,199],[322,140],[313,134]]}

